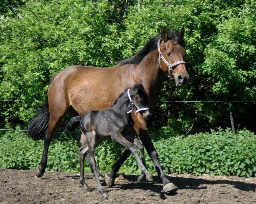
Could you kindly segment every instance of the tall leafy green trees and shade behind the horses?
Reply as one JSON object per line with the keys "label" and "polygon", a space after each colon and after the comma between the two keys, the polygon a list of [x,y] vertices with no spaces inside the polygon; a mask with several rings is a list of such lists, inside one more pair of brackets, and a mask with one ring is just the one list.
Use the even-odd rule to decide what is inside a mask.
{"label": "tall leafy green trees and shade behind the horses", "polygon": [[[54,74],[75,64],[115,65],[119,60],[132,57],[166,26],[170,31],[185,28],[190,82],[184,88],[175,88],[174,82],[166,77],[158,101],[249,101],[232,103],[235,127],[237,133],[244,128],[256,132],[256,104],[252,103],[256,98],[255,11],[253,0],[2,0],[0,99],[9,101],[0,101],[0,127],[25,128],[43,105],[49,79]],[[226,102],[159,103],[148,124],[152,133],[194,134],[216,127],[226,129],[230,127],[230,119]],[[255,139],[247,130],[243,132],[247,135],[245,138]],[[6,143],[17,138],[20,144],[30,141],[20,132],[1,132],[0,136]],[[78,137],[74,133],[68,138],[74,142]],[[160,140],[159,136],[152,137],[155,142]],[[65,138],[63,134],[58,136],[57,143],[66,141]],[[163,142],[165,137],[161,138]],[[175,140],[169,137],[164,141]],[[72,148],[77,149],[78,143],[72,144],[76,144]],[[63,148],[67,150],[69,146],[65,145]],[[106,145],[113,143],[106,142]],[[171,151],[171,147],[168,150]],[[36,152],[41,154],[42,150]],[[116,153],[114,159],[118,155]],[[39,160],[34,158],[33,161],[38,163]],[[69,161],[65,160],[67,165]],[[255,160],[250,161],[255,166]],[[103,156],[101,167],[102,162]],[[34,167],[34,163],[27,168]],[[2,167],[26,167],[4,165],[2,163]],[[49,167],[51,170],[61,168],[65,169]],[[167,169],[177,171],[177,168]],[[247,171],[248,167],[244,169]],[[252,171],[255,172],[255,168]]]}

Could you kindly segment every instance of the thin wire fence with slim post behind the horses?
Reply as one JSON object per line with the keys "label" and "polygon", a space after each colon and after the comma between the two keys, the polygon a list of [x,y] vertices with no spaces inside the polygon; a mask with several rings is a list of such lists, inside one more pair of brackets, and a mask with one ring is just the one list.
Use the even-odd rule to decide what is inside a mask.
{"label": "thin wire fence with slim post behind the horses", "polygon": [[[6,99],[0,99],[0,101],[3,102],[9,102],[9,101],[24,101],[24,100],[6,100]],[[232,113],[232,104],[233,102],[243,102],[243,103],[256,103],[256,101],[233,101],[233,100],[218,100],[218,101],[157,101],[158,104],[160,103],[207,103],[207,102],[225,102],[228,104],[228,108],[229,108],[229,112],[230,112],[230,124],[231,124],[231,128],[233,133],[236,133],[235,131],[235,126],[234,126],[234,120],[233,120],[233,113]],[[0,131],[22,131],[22,132],[27,132],[27,130],[14,130],[14,129],[4,129],[1,128]],[[66,133],[66,132],[59,132],[59,131],[55,131],[55,133]],[[77,134],[81,134],[81,132],[72,132],[72,133],[77,133]],[[154,134],[152,133],[151,135],[155,135],[155,136],[160,136],[160,135],[165,135],[165,136],[195,136],[197,134]]]}

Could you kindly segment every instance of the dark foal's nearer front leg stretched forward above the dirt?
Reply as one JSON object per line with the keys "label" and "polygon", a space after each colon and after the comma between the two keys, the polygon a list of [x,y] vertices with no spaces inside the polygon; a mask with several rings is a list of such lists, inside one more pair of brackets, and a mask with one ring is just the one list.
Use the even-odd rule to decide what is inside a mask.
{"label": "dark foal's nearer front leg stretched forward above the dirt", "polygon": [[111,139],[113,139],[114,141],[118,142],[119,144],[122,144],[124,147],[126,147],[131,153],[134,154],[135,159],[137,160],[139,166],[140,166],[140,170],[145,173],[146,178],[148,181],[153,181],[151,174],[148,172],[148,170],[146,169],[146,167],[143,165],[143,163],[140,161],[140,157],[138,155],[137,149],[134,146],[134,144],[132,144],[131,142],[129,142],[127,139],[125,139],[124,136],[122,136],[121,133],[114,133],[111,134]]}

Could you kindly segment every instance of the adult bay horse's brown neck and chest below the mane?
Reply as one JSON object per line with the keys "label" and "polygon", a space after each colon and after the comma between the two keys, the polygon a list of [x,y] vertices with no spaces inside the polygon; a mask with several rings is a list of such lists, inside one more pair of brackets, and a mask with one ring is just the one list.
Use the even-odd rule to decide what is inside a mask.
{"label": "adult bay horse's brown neck and chest below the mane", "polygon": [[154,108],[157,91],[164,76],[158,63],[158,50],[150,52],[138,65],[134,65],[132,72],[136,83],[142,80],[149,97],[149,106]]}

